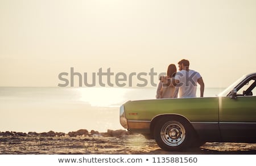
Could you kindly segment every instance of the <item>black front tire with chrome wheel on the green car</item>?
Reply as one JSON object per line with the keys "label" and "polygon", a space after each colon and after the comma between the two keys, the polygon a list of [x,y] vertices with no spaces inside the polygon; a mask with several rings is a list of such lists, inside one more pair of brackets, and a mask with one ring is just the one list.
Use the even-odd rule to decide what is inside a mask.
{"label": "black front tire with chrome wheel on the green car", "polygon": [[166,151],[182,151],[191,146],[193,127],[182,117],[161,118],[154,129],[155,141]]}

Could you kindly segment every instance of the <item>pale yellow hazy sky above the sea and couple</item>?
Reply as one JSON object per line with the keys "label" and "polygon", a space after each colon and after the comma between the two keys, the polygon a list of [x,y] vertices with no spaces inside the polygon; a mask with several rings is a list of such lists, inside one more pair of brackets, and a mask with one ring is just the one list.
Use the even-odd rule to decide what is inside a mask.
{"label": "pale yellow hazy sky above the sea and couple", "polygon": [[71,67],[162,73],[185,58],[206,87],[226,87],[256,72],[255,29],[254,0],[0,0],[0,86],[57,87]]}

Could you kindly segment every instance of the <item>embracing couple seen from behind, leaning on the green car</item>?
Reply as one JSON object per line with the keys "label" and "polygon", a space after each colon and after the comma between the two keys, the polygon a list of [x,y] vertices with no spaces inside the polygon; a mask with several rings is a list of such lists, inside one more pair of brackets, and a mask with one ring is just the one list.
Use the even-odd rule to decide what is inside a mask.
{"label": "embracing couple seen from behind, leaning on the green car", "polygon": [[194,70],[189,69],[189,61],[182,59],[178,62],[179,70],[171,64],[167,69],[167,76],[161,76],[156,91],[156,99],[196,97],[197,83],[200,84],[200,97],[204,96],[204,81],[202,76]]}

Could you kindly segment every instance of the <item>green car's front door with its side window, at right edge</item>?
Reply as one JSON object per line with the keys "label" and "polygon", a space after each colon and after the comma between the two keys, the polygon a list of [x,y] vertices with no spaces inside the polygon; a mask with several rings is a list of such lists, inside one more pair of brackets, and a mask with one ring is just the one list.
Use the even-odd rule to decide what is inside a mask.
{"label": "green car's front door with its side window, at right edge", "polygon": [[256,142],[256,81],[237,87],[237,98],[220,97],[219,126],[222,141]]}

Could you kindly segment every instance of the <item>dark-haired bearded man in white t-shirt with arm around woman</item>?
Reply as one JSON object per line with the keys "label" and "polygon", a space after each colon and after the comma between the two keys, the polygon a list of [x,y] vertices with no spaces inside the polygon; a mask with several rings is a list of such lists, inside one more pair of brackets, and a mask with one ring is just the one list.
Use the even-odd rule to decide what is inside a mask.
{"label": "dark-haired bearded man in white t-shirt with arm around woman", "polygon": [[180,98],[196,97],[197,83],[200,84],[200,97],[204,97],[204,81],[202,76],[189,69],[189,61],[182,59],[178,62],[179,70],[174,79],[174,85],[179,87]]}

